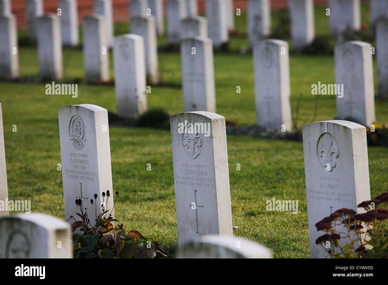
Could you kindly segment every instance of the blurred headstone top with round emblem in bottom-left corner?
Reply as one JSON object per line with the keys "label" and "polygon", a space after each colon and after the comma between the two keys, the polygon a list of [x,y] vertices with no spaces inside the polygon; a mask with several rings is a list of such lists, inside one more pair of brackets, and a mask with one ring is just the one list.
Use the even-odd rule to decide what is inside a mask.
{"label": "blurred headstone top with round emblem in bottom-left corner", "polygon": [[0,235],[0,258],[73,258],[69,225],[47,214],[3,217]]}

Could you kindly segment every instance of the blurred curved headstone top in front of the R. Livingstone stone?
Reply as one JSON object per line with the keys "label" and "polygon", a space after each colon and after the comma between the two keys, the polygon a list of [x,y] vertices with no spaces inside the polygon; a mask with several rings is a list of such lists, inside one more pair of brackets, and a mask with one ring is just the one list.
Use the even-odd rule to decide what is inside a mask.
{"label": "blurred curved headstone top in front of the R. Livingstone stone", "polygon": [[228,235],[204,235],[178,246],[177,258],[272,258],[271,251],[256,242]]}

